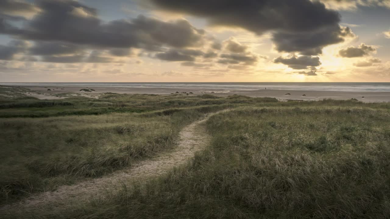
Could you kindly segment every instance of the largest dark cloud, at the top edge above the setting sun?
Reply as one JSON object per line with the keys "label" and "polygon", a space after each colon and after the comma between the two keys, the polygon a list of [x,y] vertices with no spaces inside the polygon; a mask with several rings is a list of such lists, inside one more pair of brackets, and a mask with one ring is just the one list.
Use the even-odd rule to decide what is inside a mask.
{"label": "largest dark cloud, at the top edge above the setting sun", "polygon": [[240,27],[258,35],[273,32],[278,51],[317,55],[353,36],[339,25],[340,15],[310,0],[149,0],[158,9],[206,18],[211,25]]}

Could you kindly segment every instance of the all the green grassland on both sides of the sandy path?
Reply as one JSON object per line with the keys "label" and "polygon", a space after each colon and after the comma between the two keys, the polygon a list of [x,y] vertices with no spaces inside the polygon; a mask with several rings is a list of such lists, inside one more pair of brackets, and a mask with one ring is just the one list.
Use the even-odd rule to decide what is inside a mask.
{"label": "all the green grassland on both sides of the sandy path", "polygon": [[[34,214],[20,211],[10,218],[344,219],[390,215],[388,103],[105,95],[116,98],[101,102],[114,104],[120,99],[124,108],[141,106],[148,111],[1,119],[3,198],[50,190],[131,166],[136,159],[171,147],[178,131],[203,113],[231,110],[207,120],[211,145],[167,176],[129,185],[102,200],[78,203],[79,208],[37,209]],[[71,102],[68,99],[60,101]],[[151,103],[156,100],[163,104]],[[169,101],[174,104],[168,105]],[[57,107],[69,106],[42,108]],[[0,114],[9,109],[1,109]]]}

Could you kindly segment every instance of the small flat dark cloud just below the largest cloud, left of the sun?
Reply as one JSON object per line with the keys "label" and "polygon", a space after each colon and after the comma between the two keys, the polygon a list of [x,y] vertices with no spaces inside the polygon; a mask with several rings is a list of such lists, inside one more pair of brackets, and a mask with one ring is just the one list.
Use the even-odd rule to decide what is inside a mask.
{"label": "small flat dark cloud just below the largest cloud, left of the sun", "polygon": [[274,63],[282,63],[288,65],[292,69],[308,69],[309,67],[316,67],[321,65],[319,57],[310,57],[310,56],[300,56],[300,57],[290,57],[283,58],[278,57],[273,60]]}

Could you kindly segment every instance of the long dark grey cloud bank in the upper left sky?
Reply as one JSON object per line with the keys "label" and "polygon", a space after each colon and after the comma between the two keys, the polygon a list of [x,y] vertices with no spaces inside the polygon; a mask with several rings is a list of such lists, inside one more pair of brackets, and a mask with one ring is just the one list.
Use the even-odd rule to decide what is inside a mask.
{"label": "long dark grey cloud bank in the upper left sky", "polygon": [[63,41],[109,48],[156,49],[163,45],[176,48],[200,46],[204,30],[180,19],[163,22],[145,16],[104,23],[96,9],[73,0],[41,0],[41,10],[23,28],[11,26],[3,18],[0,33],[29,40]]}

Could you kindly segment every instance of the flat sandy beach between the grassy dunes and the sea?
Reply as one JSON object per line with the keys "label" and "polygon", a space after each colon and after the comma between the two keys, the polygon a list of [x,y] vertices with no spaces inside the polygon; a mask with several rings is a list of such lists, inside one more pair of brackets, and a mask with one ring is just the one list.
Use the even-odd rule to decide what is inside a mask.
{"label": "flat sandy beach between the grassy dunes and the sea", "polygon": [[[283,100],[321,100],[351,99],[355,98],[363,102],[389,102],[390,92],[341,92],[341,91],[316,91],[316,90],[214,90],[214,89],[193,89],[193,88],[129,88],[129,87],[43,87],[43,86],[22,86],[31,90],[36,90],[44,94],[36,96],[39,99],[53,99],[56,94],[65,92],[80,92],[83,88],[92,88],[96,92],[83,92],[83,95],[96,95],[99,93],[119,93],[119,94],[160,94],[170,95],[176,92],[190,93],[190,95],[213,94],[217,96],[245,95],[250,97],[275,97]],[[48,91],[50,89],[51,91]]]}

